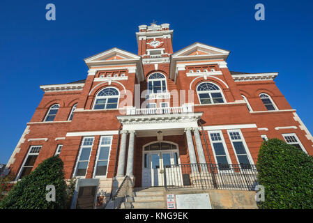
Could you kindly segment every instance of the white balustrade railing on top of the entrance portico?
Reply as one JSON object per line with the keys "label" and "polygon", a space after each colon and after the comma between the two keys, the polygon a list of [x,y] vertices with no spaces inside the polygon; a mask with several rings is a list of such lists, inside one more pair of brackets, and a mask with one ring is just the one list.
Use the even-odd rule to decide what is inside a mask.
{"label": "white balustrade railing on top of the entrance portico", "polygon": [[182,107],[156,107],[137,109],[135,107],[128,107],[127,115],[150,115],[150,114],[184,114],[191,113],[191,105],[183,105]]}

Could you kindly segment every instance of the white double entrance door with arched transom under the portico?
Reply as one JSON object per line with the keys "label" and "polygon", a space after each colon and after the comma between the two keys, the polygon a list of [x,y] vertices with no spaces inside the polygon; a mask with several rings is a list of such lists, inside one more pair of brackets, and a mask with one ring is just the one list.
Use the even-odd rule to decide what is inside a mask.
{"label": "white double entrance door with arched transom under the portico", "polygon": [[179,161],[178,148],[167,143],[157,144],[160,144],[160,147],[151,144],[144,148],[142,187],[164,186],[165,180],[167,185],[179,185],[181,169],[176,166]]}

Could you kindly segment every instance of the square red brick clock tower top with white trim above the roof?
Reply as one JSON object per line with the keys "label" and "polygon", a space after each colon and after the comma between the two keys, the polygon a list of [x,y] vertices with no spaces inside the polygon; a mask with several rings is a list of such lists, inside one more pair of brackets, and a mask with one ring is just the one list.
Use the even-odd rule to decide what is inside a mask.
{"label": "square red brick clock tower top with white trim above the roof", "polygon": [[136,36],[138,55],[142,56],[144,63],[169,63],[169,56],[173,53],[173,31],[169,30],[169,24],[141,25]]}

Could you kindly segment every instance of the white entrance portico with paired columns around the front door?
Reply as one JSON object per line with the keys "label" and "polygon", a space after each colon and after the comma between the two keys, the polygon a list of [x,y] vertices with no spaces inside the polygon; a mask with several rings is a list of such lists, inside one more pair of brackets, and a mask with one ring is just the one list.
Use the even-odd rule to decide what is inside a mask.
{"label": "white entrance portico with paired columns around the front door", "polygon": [[[171,182],[167,184],[181,184],[182,182],[175,181],[174,176],[166,175],[170,165],[181,164],[181,162],[206,163],[197,124],[201,115],[201,112],[181,112],[117,116],[123,124],[123,130],[116,176],[135,176],[136,185],[142,187],[163,186],[164,180],[169,179]],[[125,160],[128,134],[128,152],[127,160]],[[197,155],[195,149],[197,149]],[[137,171],[134,174],[135,169]]]}

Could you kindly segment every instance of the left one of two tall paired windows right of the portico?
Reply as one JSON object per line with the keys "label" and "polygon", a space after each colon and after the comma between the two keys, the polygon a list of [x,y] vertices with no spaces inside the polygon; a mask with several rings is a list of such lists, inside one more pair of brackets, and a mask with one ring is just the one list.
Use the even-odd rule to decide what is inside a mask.
{"label": "left one of two tall paired windows right of the portico", "polygon": [[215,157],[215,162],[218,164],[220,170],[229,169],[229,164],[231,160],[225,141],[221,131],[208,131],[208,136],[210,137],[211,146],[213,148],[213,154]]}

